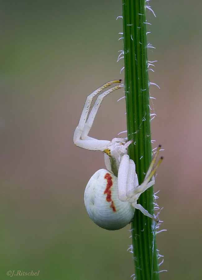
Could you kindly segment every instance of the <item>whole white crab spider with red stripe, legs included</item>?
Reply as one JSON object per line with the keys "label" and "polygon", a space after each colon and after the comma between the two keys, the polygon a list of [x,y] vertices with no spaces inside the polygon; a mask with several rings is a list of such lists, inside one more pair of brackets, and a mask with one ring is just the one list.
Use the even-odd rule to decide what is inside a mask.
{"label": "whole white crab spider with red stripe, legs included", "polygon": [[90,178],[85,189],[84,202],[85,208],[93,222],[107,230],[118,230],[130,223],[134,216],[135,208],[158,222],[140,204],[137,204],[137,200],[140,194],[155,183],[154,173],[162,158],[154,169],[153,167],[160,146],[149,166],[144,182],[139,185],[135,172],[135,163],[127,155],[127,147],[133,140],[128,141],[127,138],[113,138],[110,142],[88,136],[103,97],[121,88],[123,84],[114,86],[101,93],[96,99],[88,117],[93,97],[106,89],[106,87],[111,86],[113,83],[120,83],[121,81],[110,81],[87,97],[73,138],[74,144],[78,147],[104,152],[104,161],[107,169],[98,170]]}

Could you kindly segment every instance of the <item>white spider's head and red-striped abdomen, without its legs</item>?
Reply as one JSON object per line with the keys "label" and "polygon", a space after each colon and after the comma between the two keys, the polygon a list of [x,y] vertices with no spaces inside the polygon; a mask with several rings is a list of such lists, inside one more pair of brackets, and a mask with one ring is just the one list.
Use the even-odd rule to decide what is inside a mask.
{"label": "white spider's head and red-striped abdomen, without its legs", "polygon": [[[104,150],[106,169],[90,178],[84,194],[85,208],[90,218],[100,227],[118,230],[131,222],[135,209],[128,201],[118,198],[117,176],[122,156],[132,141],[114,138]],[[110,153],[110,156],[108,155]],[[126,156],[129,159],[129,156]],[[138,182],[137,182],[138,185]]]}

